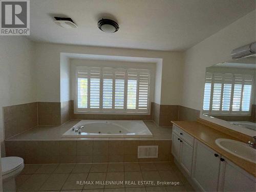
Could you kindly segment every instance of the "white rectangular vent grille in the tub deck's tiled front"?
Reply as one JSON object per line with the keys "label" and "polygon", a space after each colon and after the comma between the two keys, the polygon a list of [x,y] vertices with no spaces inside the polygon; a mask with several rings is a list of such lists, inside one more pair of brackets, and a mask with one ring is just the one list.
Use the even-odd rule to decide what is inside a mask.
{"label": "white rectangular vent grille in the tub deck's tiled front", "polygon": [[157,158],[158,145],[138,146],[138,158]]}

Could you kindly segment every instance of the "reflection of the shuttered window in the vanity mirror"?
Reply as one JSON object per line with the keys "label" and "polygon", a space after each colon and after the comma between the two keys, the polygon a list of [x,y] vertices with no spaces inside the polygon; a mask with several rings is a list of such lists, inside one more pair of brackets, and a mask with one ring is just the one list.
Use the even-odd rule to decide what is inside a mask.
{"label": "reflection of the shuttered window in the vanity mirror", "polygon": [[252,83],[251,75],[206,73],[204,113],[249,115]]}

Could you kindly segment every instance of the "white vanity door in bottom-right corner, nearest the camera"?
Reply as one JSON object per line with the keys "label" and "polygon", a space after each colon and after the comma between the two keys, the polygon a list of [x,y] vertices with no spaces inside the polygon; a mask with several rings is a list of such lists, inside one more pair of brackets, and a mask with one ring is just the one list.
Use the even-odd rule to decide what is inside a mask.
{"label": "white vanity door in bottom-right corner, nearest the camera", "polygon": [[221,161],[219,190],[220,191],[256,191],[255,178],[225,157]]}

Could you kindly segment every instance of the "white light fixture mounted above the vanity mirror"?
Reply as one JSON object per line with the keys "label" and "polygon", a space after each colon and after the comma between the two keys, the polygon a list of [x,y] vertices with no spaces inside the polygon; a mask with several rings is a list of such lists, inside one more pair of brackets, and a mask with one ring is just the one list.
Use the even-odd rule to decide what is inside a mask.
{"label": "white light fixture mounted above the vanity mirror", "polygon": [[252,42],[251,44],[242,46],[237,49],[233,49],[233,51],[231,52],[232,59],[237,59],[255,54],[255,46],[255,42]]}

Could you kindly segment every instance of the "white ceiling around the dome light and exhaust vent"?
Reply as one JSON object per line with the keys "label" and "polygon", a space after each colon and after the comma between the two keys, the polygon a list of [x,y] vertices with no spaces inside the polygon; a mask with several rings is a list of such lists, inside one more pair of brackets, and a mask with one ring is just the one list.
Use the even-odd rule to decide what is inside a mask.
{"label": "white ceiling around the dome light and exhaust vent", "polygon": [[[34,41],[101,47],[186,50],[255,9],[254,0],[30,0]],[[53,16],[69,16],[64,29]],[[119,24],[116,33],[97,27],[100,18]]]}

